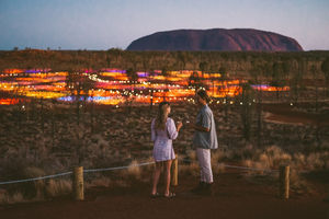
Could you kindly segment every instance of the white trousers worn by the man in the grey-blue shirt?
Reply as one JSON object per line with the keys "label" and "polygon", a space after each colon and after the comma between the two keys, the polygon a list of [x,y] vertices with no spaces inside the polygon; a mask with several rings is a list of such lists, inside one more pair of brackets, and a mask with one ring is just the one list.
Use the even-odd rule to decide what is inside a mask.
{"label": "white trousers worn by the man in the grey-blue shirt", "polygon": [[211,162],[211,149],[196,149],[196,157],[200,165],[201,182],[213,183],[213,171]]}

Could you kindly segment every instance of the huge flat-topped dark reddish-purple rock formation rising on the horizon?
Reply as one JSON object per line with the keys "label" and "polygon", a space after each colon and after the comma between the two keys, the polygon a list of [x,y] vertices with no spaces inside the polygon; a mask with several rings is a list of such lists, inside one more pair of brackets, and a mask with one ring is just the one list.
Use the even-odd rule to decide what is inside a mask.
{"label": "huge flat-topped dark reddish-purple rock formation rising on the horizon", "polygon": [[127,50],[299,51],[292,37],[252,28],[177,30],[134,41]]}

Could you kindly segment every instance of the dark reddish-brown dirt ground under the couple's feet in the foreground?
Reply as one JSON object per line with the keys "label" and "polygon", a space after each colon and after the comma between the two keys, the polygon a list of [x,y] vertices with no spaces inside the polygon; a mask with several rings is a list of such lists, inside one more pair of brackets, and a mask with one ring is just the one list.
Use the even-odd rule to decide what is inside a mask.
{"label": "dark reddish-brown dirt ground under the couple's feet in the foreground", "polygon": [[250,181],[237,172],[216,176],[213,196],[189,193],[195,177],[180,181],[174,199],[148,197],[149,185],[129,188],[93,188],[84,201],[68,197],[34,204],[0,207],[1,219],[87,219],[87,218],[307,218],[329,219],[329,204],[322,201],[324,188],[313,195],[292,194],[288,200],[276,197],[276,183]]}

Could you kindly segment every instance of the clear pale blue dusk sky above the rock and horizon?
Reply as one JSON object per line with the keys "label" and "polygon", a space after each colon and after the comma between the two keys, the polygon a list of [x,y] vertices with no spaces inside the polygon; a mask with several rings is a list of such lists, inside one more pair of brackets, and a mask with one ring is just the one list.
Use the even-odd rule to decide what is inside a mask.
{"label": "clear pale blue dusk sky above the rock and horizon", "polygon": [[328,0],[0,0],[0,49],[125,49],[178,28],[257,28],[329,50]]}

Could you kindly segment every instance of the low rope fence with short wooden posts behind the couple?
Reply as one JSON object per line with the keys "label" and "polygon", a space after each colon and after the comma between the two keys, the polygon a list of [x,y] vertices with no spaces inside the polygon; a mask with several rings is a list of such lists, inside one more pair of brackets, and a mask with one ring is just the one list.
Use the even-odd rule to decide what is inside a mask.
{"label": "low rope fence with short wooden posts behind the couple", "polygon": [[[178,172],[179,172],[179,165],[178,161],[183,162],[193,162],[189,159],[179,159],[178,155],[175,160],[172,163],[172,185],[178,185]],[[83,194],[83,173],[95,173],[95,172],[105,172],[105,171],[115,171],[115,170],[125,170],[129,168],[138,168],[138,166],[145,166],[145,165],[151,165],[155,164],[155,162],[144,162],[144,163],[137,163],[132,165],[124,165],[124,166],[114,166],[114,168],[103,168],[103,169],[89,169],[83,170],[83,166],[76,166],[72,171],[53,174],[53,175],[46,175],[46,176],[39,176],[39,177],[33,177],[33,178],[25,178],[25,180],[16,180],[16,181],[7,181],[7,182],[0,182],[0,185],[9,185],[9,184],[15,184],[15,183],[25,183],[25,182],[33,182],[33,181],[41,181],[41,180],[48,180],[48,178],[55,178],[66,175],[73,174],[72,177],[72,191],[73,191],[73,197],[76,200],[83,200],[84,194]],[[290,166],[280,166],[280,170],[269,170],[269,169],[256,169],[256,168],[248,168],[248,166],[239,166],[239,165],[230,165],[225,163],[217,163],[218,165],[223,165],[225,168],[230,169],[238,169],[238,170],[248,170],[248,171],[262,171],[262,172],[270,172],[270,173],[280,173],[280,197],[283,199],[288,199],[288,192],[290,192]]]}

